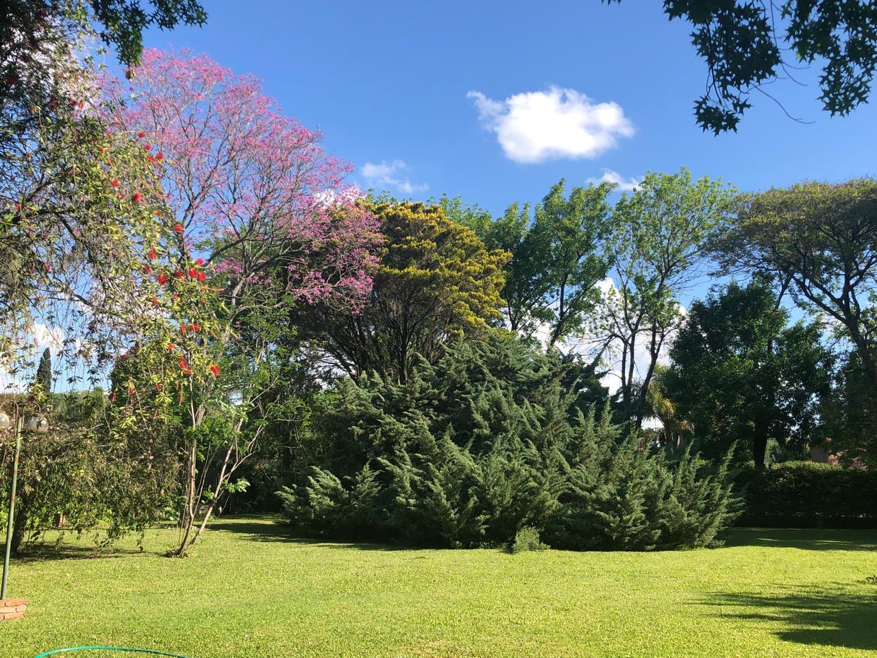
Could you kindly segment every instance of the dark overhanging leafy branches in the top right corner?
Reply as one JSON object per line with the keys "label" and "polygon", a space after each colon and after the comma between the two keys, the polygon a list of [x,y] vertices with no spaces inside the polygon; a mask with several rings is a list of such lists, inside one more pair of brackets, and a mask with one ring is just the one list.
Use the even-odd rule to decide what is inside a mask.
{"label": "dark overhanging leafy branches in the top right corner", "polygon": [[[607,4],[620,0],[603,0]],[[867,102],[877,68],[877,4],[872,0],[664,0],[671,19],[694,28],[691,43],[709,71],[695,102],[697,125],[718,134],[737,130],[750,97],[821,61],[819,97],[831,116]]]}

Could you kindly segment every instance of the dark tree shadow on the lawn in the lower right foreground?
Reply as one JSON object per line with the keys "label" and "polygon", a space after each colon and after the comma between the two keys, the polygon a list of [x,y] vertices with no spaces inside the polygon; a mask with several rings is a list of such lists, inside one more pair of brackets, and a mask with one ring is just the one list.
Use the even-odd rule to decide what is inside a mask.
{"label": "dark tree shadow on the lawn in the lower right foreground", "polygon": [[[717,616],[756,627],[779,622],[774,633],[797,644],[877,649],[877,587],[862,593],[842,585],[787,587],[774,594],[716,593],[705,603]],[[734,610],[727,610],[733,608]]]}

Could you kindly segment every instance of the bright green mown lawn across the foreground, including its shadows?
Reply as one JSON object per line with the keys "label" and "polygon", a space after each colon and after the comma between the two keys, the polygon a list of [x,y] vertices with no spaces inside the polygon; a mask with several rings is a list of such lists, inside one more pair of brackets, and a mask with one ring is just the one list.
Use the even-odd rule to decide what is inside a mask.
{"label": "bright green mown lawn across the foreground, including its shadows", "polygon": [[[220,519],[187,560],[172,531],[67,540],[14,562],[0,655],[81,644],[246,656],[873,656],[877,532],[738,530],[688,553],[393,550]],[[71,654],[94,656],[95,654]],[[101,654],[106,655],[106,654]]]}

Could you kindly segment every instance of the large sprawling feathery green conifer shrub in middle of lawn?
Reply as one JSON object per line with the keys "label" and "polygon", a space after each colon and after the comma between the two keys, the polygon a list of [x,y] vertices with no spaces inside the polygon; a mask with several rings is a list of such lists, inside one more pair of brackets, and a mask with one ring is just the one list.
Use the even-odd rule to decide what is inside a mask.
{"label": "large sprawling feathery green conifer shrub in middle of lawn", "polygon": [[347,379],[310,476],[278,492],[298,532],[436,547],[702,547],[736,514],[727,461],[667,454],[611,422],[562,361],[502,335],[408,381]]}

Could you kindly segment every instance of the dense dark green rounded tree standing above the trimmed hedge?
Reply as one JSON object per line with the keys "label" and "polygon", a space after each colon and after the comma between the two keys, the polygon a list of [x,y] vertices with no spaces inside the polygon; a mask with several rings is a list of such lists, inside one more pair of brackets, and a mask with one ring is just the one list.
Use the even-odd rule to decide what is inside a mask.
{"label": "dense dark green rounded tree standing above the trimmed hedge", "polygon": [[817,325],[788,325],[788,316],[758,282],[731,283],[691,305],[665,383],[707,454],[739,442],[764,468],[769,439],[784,445],[816,438],[833,359]]}

